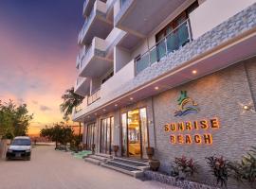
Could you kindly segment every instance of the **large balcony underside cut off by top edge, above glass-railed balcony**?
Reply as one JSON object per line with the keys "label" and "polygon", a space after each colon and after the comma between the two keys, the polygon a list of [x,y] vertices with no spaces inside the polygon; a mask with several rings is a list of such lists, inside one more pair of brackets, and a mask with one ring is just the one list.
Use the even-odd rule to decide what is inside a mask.
{"label": "large balcony underside cut off by top edge, above glass-railed balcony", "polygon": [[[186,0],[119,0],[120,10],[115,26],[140,38],[148,36]],[[160,10],[160,11],[159,11]]]}

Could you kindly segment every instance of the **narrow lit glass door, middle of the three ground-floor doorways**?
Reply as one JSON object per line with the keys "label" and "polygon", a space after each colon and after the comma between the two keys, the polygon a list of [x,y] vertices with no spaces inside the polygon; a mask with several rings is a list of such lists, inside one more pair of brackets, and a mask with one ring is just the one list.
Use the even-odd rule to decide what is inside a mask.
{"label": "narrow lit glass door, middle of the three ground-floor doorways", "polygon": [[113,143],[114,117],[101,119],[101,153],[111,154]]}

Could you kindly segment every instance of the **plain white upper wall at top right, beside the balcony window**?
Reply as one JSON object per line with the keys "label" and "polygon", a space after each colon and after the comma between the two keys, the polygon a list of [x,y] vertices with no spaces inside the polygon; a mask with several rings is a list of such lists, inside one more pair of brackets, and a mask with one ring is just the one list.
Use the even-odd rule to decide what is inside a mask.
{"label": "plain white upper wall at top right, beside the balcony window", "polygon": [[255,0],[207,0],[190,15],[193,39],[197,39],[255,2]]}

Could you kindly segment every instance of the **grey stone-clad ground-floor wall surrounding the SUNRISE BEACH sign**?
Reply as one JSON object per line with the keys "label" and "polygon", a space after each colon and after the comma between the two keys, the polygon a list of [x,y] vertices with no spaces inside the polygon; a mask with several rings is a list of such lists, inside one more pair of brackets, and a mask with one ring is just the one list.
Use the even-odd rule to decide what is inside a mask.
{"label": "grey stone-clad ground-floor wall surrounding the SUNRISE BEACH sign", "polygon": [[[255,77],[255,60],[247,60],[248,72]],[[255,83],[255,80],[253,81]],[[243,105],[252,102],[244,62],[237,63],[227,69],[196,79],[172,90],[154,96],[155,106],[155,159],[161,162],[160,170],[170,172],[171,162],[175,157],[185,155],[198,161],[200,171],[196,180],[214,183],[210,176],[206,156],[224,156],[231,161],[238,161],[250,146],[256,144],[255,110],[245,111]],[[189,97],[198,104],[200,112],[175,117],[177,98],[180,91],[187,91]],[[208,145],[172,145],[169,143],[171,132],[165,132],[166,123],[194,121],[204,118],[218,117],[220,129],[208,130],[212,134],[213,144]],[[176,132],[175,134],[178,134]],[[205,133],[204,130],[180,132],[181,134]],[[230,188],[236,188],[230,180]],[[238,187],[239,188],[239,187]]]}

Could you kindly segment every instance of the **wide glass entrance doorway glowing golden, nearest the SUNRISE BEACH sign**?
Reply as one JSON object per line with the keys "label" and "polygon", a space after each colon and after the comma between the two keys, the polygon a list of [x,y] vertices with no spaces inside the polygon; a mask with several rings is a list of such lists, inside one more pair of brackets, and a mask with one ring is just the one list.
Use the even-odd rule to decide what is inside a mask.
{"label": "wide glass entrance doorway glowing golden, nearest the SUNRISE BEACH sign", "polygon": [[122,156],[142,158],[148,146],[148,126],[146,108],[124,112],[121,115]]}

